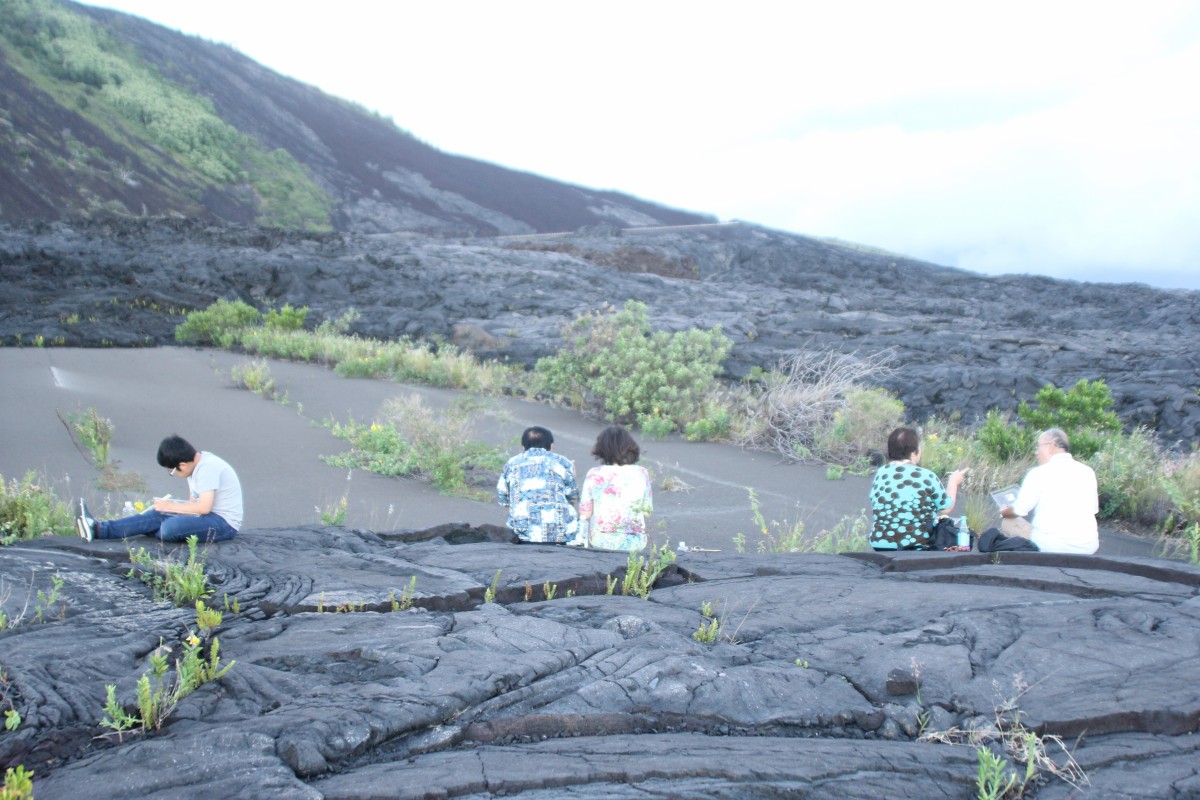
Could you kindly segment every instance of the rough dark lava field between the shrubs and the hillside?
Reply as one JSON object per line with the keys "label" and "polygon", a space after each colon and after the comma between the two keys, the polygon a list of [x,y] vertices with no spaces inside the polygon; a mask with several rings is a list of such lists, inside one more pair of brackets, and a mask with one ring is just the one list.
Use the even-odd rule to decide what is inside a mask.
{"label": "rough dark lava field between the shrubs and the hillside", "polygon": [[443,337],[522,363],[552,353],[577,314],[636,299],[662,329],[720,325],[731,377],[798,349],[892,350],[887,385],[917,419],[971,421],[1086,378],[1109,384],[1127,423],[1200,435],[1200,293],[990,278],[743,224],[524,241],[0,227],[0,285],[5,344],[173,342],[178,313],[240,297],[310,306],[314,324],[353,307],[356,332]]}

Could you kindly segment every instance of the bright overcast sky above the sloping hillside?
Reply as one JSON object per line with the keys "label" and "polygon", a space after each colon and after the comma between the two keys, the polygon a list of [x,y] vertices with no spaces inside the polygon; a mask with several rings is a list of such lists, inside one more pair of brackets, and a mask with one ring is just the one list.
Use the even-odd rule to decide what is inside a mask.
{"label": "bright overcast sky above the sloping hillside", "polygon": [[1200,289],[1200,2],[100,0],[446,152],[982,272]]}

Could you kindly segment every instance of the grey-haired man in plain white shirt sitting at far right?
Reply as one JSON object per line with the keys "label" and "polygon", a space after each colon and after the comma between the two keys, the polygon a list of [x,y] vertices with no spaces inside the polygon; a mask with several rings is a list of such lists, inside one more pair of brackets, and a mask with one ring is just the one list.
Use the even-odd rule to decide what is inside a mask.
{"label": "grey-haired man in plain white shirt sitting at far right", "polygon": [[1069,450],[1070,441],[1058,428],[1038,434],[1038,465],[1026,474],[1016,500],[1001,509],[1000,516],[1028,517],[1030,540],[1043,553],[1091,554],[1100,547],[1096,473],[1072,458]]}

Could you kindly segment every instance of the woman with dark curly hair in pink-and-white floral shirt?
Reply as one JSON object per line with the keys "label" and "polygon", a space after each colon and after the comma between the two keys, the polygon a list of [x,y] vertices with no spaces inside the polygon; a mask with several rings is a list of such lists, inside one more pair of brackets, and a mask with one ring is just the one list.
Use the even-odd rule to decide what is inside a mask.
{"label": "woman with dark curly hair in pink-and-white floral shirt", "polygon": [[580,521],[590,521],[588,542],[607,551],[646,547],[646,515],[653,509],[650,475],[637,467],[642,451],[629,431],[612,425],[600,432],[593,467],[583,479]]}

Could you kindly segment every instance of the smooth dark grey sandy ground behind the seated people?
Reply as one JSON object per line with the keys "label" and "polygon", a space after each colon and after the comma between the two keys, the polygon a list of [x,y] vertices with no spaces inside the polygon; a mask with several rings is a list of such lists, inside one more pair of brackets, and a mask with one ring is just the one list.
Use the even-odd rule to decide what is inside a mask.
{"label": "smooth dark grey sandy ground behind the seated people", "polygon": [[[457,392],[383,380],[340,378],[317,365],[270,361],[287,402],[272,402],[236,389],[230,369],[252,359],[223,350],[192,348],[0,349],[0,475],[13,479],[35,470],[62,498],[80,494],[100,513],[126,499],[146,499],[185,488],[156,461],[158,441],[178,433],[238,470],[246,498],[244,530],[320,524],[322,510],[347,495],[347,525],[370,530],[424,529],[442,523],[504,524],[494,501],[440,494],[418,479],[372,475],[326,465],[322,456],[342,452],[344,443],[328,420],[372,421],[388,401],[416,395],[444,408]],[[511,398],[484,398],[475,438],[520,450],[522,429],[553,431],[554,450],[572,459],[582,480],[596,464],[590,449],[604,423],[575,411]],[[146,492],[118,494],[96,486],[97,471],[74,445],[60,420],[89,408],[115,426],[109,458],[121,471],[137,473]],[[769,453],[678,438],[640,439],[642,463],[654,476],[656,542],[733,549],[733,537],[758,537],[748,489],[768,521],[803,521],[810,531],[827,529],[868,505],[870,480],[829,481],[822,467],[782,464]],[[667,491],[667,486],[689,488]],[[1102,531],[1102,553],[1148,555],[1148,541]]]}

